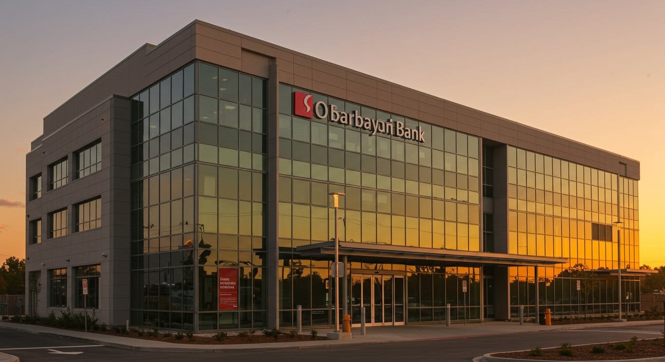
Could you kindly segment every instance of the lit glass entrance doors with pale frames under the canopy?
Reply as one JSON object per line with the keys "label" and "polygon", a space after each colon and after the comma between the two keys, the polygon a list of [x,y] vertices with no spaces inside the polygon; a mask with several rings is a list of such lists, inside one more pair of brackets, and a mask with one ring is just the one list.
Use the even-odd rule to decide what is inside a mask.
{"label": "lit glass entrance doors with pale frames under the canopy", "polygon": [[366,325],[404,324],[404,276],[352,276],[350,302],[355,325],[360,324],[361,307]]}

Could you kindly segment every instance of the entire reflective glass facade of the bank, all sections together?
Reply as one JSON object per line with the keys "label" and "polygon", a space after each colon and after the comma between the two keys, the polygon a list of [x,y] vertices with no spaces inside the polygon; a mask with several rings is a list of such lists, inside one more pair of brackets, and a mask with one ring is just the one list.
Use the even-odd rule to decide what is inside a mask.
{"label": "entire reflective glass facade of the bank, all sections together", "polygon": [[[277,235],[267,234],[275,185],[267,185],[266,80],[193,62],[132,98],[132,324],[262,328],[275,308],[279,326],[292,327],[300,305],[303,325],[331,325],[332,258],[304,257],[297,248],[334,240],[329,193],[336,191],[346,194],[337,220],[342,242],[450,254],[505,248],[569,260],[538,266],[537,274],[533,266],[507,268],[509,316],[520,304],[531,315],[537,304],[555,315],[582,305],[591,314],[616,310],[616,278],[608,275],[618,267],[613,225],[617,217],[623,223],[622,264],[638,266],[637,181],[515,147],[482,147],[479,137],[288,84],[277,92]],[[338,112],[420,128],[425,141],[372,134],[331,122],[331,114],[294,116],[293,92]],[[505,150],[505,165],[497,149]],[[504,192],[508,222],[497,227],[500,218],[481,206]],[[269,238],[279,246],[272,271]],[[500,266],[405,260],[350,258],[352,323],[360,323],[362,306],[372,324],[443,321],[446,304],[452,319],[491,318],[503,308],[493,300]],[[277,306],[268,305],[271,272]],[[230,302],[222,280],[235,285]],[[624,278],[623,288],[626,311],[635,310],[638,280]]]}

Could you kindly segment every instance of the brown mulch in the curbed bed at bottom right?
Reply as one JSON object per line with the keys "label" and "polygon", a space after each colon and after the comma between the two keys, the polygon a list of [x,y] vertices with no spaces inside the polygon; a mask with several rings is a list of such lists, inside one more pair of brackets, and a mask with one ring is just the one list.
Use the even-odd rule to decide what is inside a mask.
{"label": "brown mulch in the curbed bed at bottom right", "polygon": [[[532,359],[551,360],[551,361],[611,361],[614,359],[636,359],[648,357],[663,357],[665,356],[665,344],[662,338],[658,339],[640,339],[637,341],[632,352],[619,350],[614,347],[620,343],[598,343],[593,345],[578,345],[573,346],[573,357],[559,355],[559,348],[542,349],[543,355],[530,356],[529,351],[509,352],[509,353],[492,353],[493,357],[507,357],[518,359]],[[622,342],[628,345],[628,341]],[[593,353],[591,350],[594,346],[602,347],[605,351],[603,353]]]}

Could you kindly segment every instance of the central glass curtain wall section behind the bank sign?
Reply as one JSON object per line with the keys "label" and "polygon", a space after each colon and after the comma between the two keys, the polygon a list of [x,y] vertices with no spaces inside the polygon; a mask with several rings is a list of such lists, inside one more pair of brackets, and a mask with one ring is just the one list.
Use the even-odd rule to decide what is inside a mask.
{"label": "central glass curtain wall section behind the bank sign", "polygon": [[[340,112],[358,111],[364,117],[420,126],[426,142],[372,136],[327,119],[293,116],[294,91],[312,94],[314,103],[334,104]],[[281,325],[295,323],[299,304],[303,325],[332,323],[329,296],[334,283],[326,288],[329,260],[301,258],[288,251],[334,238],[331,192],[346,193],[340,198],[341,241],[481,250],[477,137],[286,84],[280,84],[279,92]],[[473,292],[479,291],[477,268],[362,262],[351,262],[350,268],[406,272],[408,321],[440,320],[446,301],[463,306],[461,280],[466,278],[471,283],[466,303],[473,306],[467,317],[479,318],[479,292]],[[463,312],[460,308],[453,318],[464,318]]]}

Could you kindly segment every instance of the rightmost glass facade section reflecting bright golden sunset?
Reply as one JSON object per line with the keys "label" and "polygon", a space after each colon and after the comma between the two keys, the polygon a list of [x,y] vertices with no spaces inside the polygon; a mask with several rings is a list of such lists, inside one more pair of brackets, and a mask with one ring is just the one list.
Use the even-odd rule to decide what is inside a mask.
{"label": "rightmost glass facade section reflecting bright golden sunset", "polygon": [[[507,147],[507,166],[509,253],[569,260],[539,267],[538,283],[533,268],[510,268],[511,316],[520,304],[535,314],[536,288],[541,309],[554,315],[618,312],[617,280],[604,270],[619,267],[616,221],[620,267],[639,267],[637,181],[515,147]],[[639,279],[622,282],[624,312],[638,311]]]}

